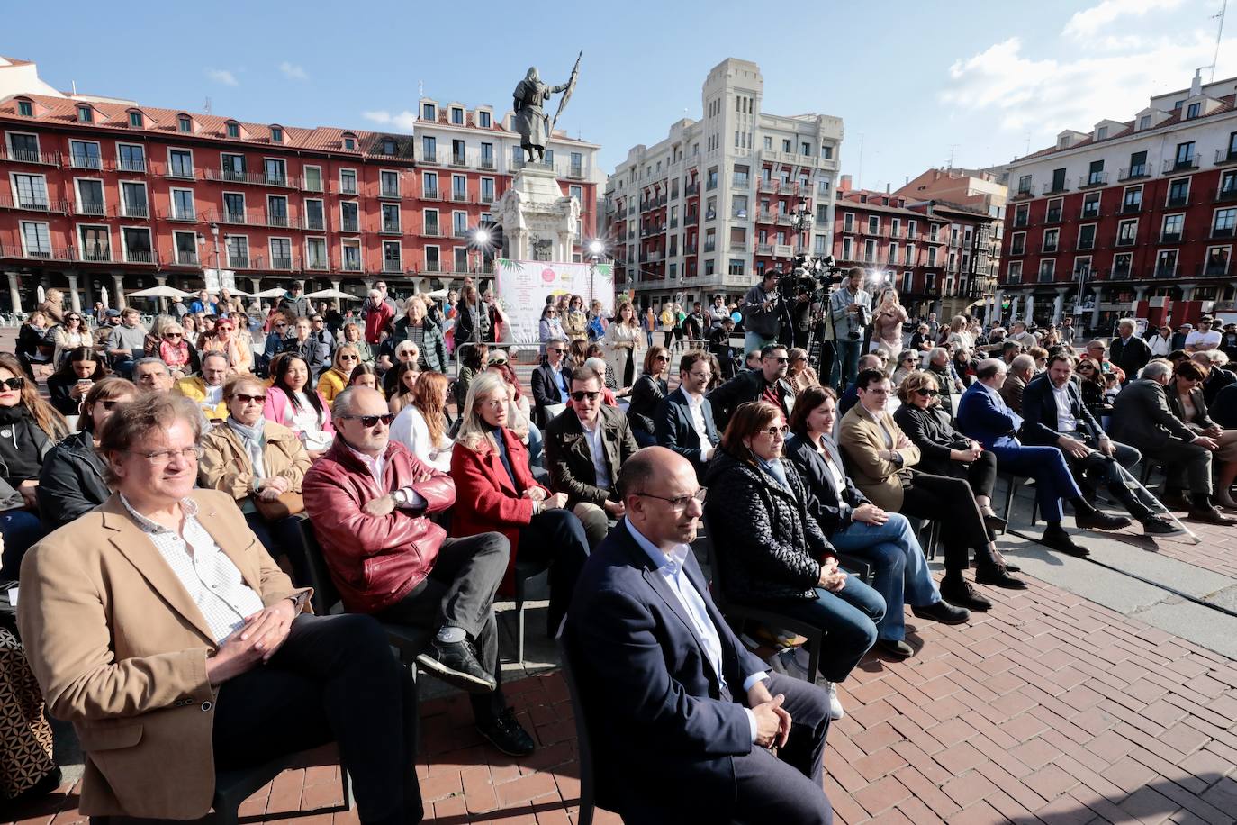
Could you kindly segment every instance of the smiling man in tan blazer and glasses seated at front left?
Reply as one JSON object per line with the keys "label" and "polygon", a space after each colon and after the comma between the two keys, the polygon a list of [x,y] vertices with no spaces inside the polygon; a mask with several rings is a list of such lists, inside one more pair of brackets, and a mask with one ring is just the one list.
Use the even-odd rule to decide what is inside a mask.
{"label": "smiling man in tan blazer and glasses seated at front left", "polygon": [[[367,616],[303,613],[230,496],[194,490],[192,401],[120,404],[98,510],[26,554],[17,621],[85,752],[88,815],[205,815],[215,771],[338,741],[362,823],[417,821],[398,664]],[[265,665],[265,667],[263,667]]]}

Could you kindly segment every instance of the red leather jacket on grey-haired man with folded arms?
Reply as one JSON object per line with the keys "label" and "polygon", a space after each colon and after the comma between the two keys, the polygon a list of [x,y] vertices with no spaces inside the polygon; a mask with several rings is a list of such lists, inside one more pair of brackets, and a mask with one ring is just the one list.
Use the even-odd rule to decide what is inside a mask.
{"label": "red leather jacket on grey-haired man with folded arms", "polygon": [[[330,569],[330,578],[353,612],[390,607],[421,584],[438,558],[447,532],[426,513],[455,503],[455,485],[445,472],[422,464],[398,442],[387,444],[382,489],[374,482],[341,438],[306,474],[301,489]],[[423,479],[418,481],[418,479]],[[427,502],[424,511],[396,507],[382,517],[361,506],[401,487]]]}

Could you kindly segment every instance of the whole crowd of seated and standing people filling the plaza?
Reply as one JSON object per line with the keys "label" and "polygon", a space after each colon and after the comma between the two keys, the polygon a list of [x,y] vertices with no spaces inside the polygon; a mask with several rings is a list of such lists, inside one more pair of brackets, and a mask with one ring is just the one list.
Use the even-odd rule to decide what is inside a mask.
{"label": "whole crowd of seated and standing people filling the plaza", "polygon": [[[1056,330],[929,317],[904,341],[897,293],[873,301],[860,271],[828,301],[833,364],[811,364],[778,277],[735,309],[743,359],[720,299],[669,308],[661,343],[668,322],[630,302],[606,317],[554,299],[527,387],[473,283],[445,310],[380,283],[334,329],[298,283],[259,328],[205,292],[150,330],[124,310],[92,336],[62,313],[46,357],[0,355],[0,580],[21,594],[21,642],[0,642],[25,644],[77,729],[80,810],[199,816],[215,771],[334,740],[362,821],[417,821],[414,698],[382,626],[423,631],[418,664],[526,757],[494,611],[521,559],[549,569],[544,632],[563,630],[599,782],[630,821],[825,823],[836,685],[873,647],[915,654],[907,606],[957,625],[992,607],[976,585],[1025,588],[997,547],[998,477],[1033,477],[1040,543],[1077,557],[1066,512],[1150,536],[1181,532],[1174,510],[1237,523],[1228,339],[1190,333],[1160,356],[1122,322],[1077,353]],[[1158,497],[1131,474],[1148,461]],[[1101,489],[1128,517],[1096,506]],[[344,615],[307,610],[306,519]],[[713,602],[701,528],[726,601],[819,627],[823,649],[769,627],[755,657]],[[0,789],[42,788],[42,768]]]}

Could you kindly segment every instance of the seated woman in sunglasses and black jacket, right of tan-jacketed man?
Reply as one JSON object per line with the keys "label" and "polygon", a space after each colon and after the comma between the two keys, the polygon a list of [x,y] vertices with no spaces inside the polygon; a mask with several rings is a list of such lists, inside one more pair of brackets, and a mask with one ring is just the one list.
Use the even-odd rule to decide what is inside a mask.
{"label": "seated woman in sunglasses and black jacket, right of tan-jacketed man", "polygon": [[940,406],[936,376],[924,370],[912,372],[898,387],[898,398],[902,406],[893,413],[893,421],[919,448],[920,459],[915,469],[965,479],[988,529],[1004,527],[1004,519],[992,510],[997,456],[954,429],[949,413]]}

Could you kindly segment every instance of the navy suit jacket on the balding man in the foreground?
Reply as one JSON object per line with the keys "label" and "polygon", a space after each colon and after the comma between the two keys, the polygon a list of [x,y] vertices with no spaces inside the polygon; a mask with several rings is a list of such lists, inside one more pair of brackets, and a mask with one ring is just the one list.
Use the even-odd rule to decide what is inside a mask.
{"label": "navy suit jacket on the balding man in the foreground", "polygon": [[585,562],[563,643],[593,731],[599,797],[625,813],[631,806],[690,810],[690,821],[729,821],[732,757],[752,748],[742,685],[767,668],[713,604],[691,553],[683,573],[716,628],[721,674],[625,521]]}

